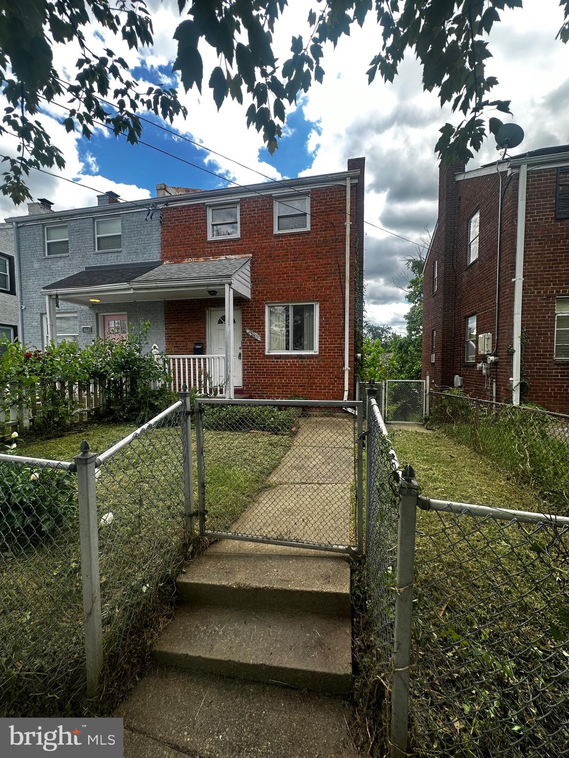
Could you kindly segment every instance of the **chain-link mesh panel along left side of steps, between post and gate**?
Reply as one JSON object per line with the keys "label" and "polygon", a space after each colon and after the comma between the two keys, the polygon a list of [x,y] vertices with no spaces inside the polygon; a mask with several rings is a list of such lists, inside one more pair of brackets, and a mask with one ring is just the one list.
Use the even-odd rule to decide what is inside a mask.
{"label": "chain-link mesh panel along left side of steps, between post and gate", "polygon": [[[105,657],[129,656],[187,541],[180,403],[96,470]],[[173,587],[173,584],[171,585]]]}

